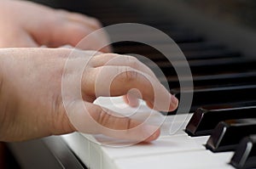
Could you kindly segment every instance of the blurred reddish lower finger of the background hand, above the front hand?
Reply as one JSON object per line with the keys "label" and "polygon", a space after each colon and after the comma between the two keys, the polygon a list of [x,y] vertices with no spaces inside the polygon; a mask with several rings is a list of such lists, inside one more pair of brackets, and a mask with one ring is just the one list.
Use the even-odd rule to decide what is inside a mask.
{"label": "blurred reddish lower finger of the background hand, above the front hand", "polygon": [[52,21],[49,23],[48,29],[40,29],[40,31],[38,29],[30,30],[37,30],[30,32],[36,42],[51,48],[71,45],[84,50],[100,50],[104,53],[111,51],[111,48],[108,47],[108,37],[106,34],[99,32],[87,37],[95,29],[68,20]]}

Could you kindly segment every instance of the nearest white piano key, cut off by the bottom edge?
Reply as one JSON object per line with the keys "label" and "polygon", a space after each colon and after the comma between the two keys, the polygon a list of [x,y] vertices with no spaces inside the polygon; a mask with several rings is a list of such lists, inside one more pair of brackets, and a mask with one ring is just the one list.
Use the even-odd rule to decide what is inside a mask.
{"label": "nearest white piano key, cut off by the bottom edge", "polygon": [[213,154],[208,150],[121,158],[113,169],[234,169],[228,165],[233,152]]}

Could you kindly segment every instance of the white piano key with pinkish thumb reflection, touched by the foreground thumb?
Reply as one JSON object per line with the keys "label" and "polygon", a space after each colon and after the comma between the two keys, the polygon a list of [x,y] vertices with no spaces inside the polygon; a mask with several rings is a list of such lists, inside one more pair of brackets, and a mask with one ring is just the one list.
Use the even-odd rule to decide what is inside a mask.
{"label": "white piano key with pinkish thumb reflection, touched by the foreground thumb", "polygon": [[[189,138],[187,135],[169,135],[158,138],[152,143],[132,144],[122,140],[114,140],[102,135],[95,136],[98,143],[107,145],[104,149],[108,151],[108,157],[129,158],[131,156],[172,154],[180,151],[204,150],[203,144],[207,142],[208,136],[200,138]],[[118,149],[122,148],[122,149]]]}

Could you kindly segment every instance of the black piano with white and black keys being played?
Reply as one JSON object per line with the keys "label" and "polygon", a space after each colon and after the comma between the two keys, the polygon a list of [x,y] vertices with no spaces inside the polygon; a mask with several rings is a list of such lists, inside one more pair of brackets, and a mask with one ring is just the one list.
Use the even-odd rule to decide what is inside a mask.
{"label": "black piano with white and black keys being played", "polygon": [[[177,42],[188,60],[194,90],[188,86],[183,92],[193,93],[194,98],[189,110],[183,110],[185,104],[180,103],[180,112],[168,113],[149,110],[143,101],[135,109],[127,106],[120,97],[96,99],[95,104],[123,114],[136,111],[134,118],[139,120],[146,119],[151,112],[153,118],[149,123],[163,121],[160,138],[152,143],[132,144],[127,140],[79,132],[44,138],[44,143],[49,149],[62,149],[54,153],[55,157],[63,157],[65,145],[65,149],[68,147],[69,155],[76,160],[60,157],[64,168],[256,167],[255,5],[253,1],[238,0],[56,1],[55,7],[75,8],[98,18],[103,25],[140,23],[164,31]],[[131,29],[109,34],[113,39],[143,35],[149,37],[149,42],[168,51],[168,44],[154,36],[154,32]],[[171,92],[178,98],[182,95],[180,82],[189,84],[188,76],[177,78],[166,57],[143,42],[115,42],[113,52],[143,55],[148,59],[138,59],[151,68],[154,66],[148,60],[153,61],[163,71]],[[172,57],[172,50],[168,54]],[[177,66],[182,67],[183,64]],[[158,78],[160,82],[165,79],[162,76]],[[19,144],[9,144],[9,147],[19,156],[15,153]],[[28,149],[29,144],[26,147]],[[73,161],[76,166],[67,165],[67,161]]]}

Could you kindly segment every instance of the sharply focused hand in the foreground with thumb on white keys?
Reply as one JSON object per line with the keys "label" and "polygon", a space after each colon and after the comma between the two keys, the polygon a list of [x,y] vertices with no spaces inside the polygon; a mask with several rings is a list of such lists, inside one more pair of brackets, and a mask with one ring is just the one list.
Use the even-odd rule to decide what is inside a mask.
{"label": "sharply focused hand in the foreground with thumb on white keys", "polygon": [[[71,52],[75,57],[65,67]],[[143,125],[128,131],[142,121],[117,116],[92,102],[98,96],[121,96],[134,88],[156,110],[175,110],[177,99],[146,65],[131,56],[97,54],[91,59],[90,56],[88,51],[70,48],[0,49],[0,140],[21,141],[77,130],[141,141],[158,138],[160,129],[153,131],[153,127]],[[82,70],[82,80],[76,83],[76,78],[80,78],[78,67],[84,61],[88,64]],[[113,76],[116,77],[111,80]],[[61,93],[61,82],[70,90]],[[81,87],[82,97],[80,91],[73,90],[76,86]],[[134,93],[134,97],[140,96]],[[162,106],[166,100],[172,102]]]}

